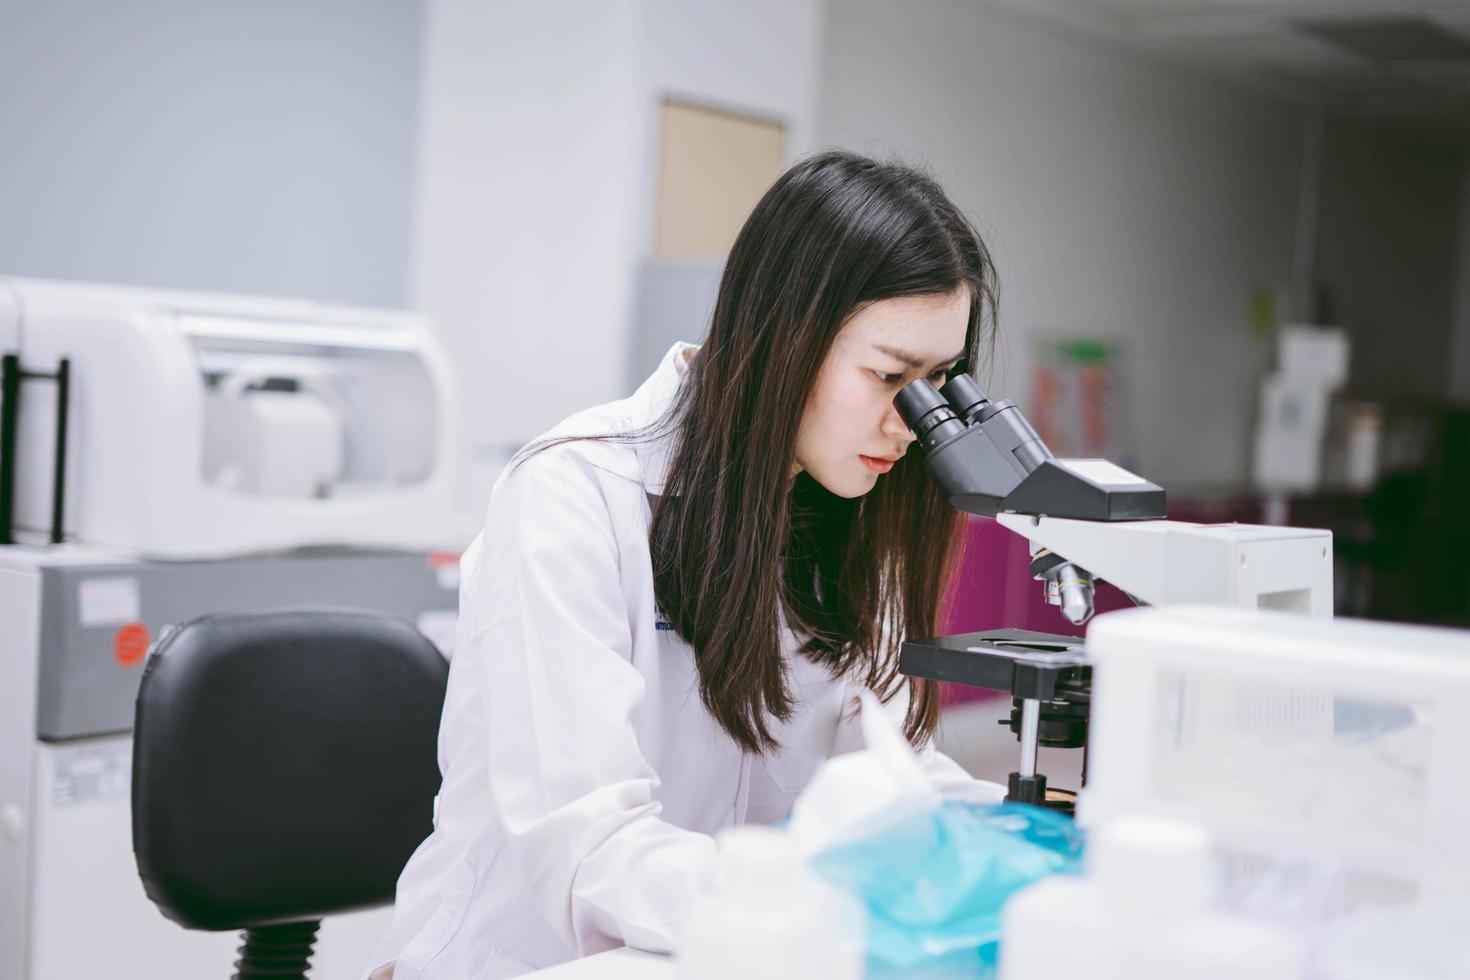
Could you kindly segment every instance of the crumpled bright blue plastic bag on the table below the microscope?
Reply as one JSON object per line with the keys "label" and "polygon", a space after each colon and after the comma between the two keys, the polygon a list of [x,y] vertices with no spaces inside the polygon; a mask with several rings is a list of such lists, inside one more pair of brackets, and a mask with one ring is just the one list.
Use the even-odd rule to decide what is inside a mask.
{"label": "crumpled bright blue plastic bag on the table below the microscope", "polygon": [[866,905],[870,979],[992,977],[1005,899],[1079,873],[1082,848],[1061,814],[950,802],[822,851],[811,867]]}

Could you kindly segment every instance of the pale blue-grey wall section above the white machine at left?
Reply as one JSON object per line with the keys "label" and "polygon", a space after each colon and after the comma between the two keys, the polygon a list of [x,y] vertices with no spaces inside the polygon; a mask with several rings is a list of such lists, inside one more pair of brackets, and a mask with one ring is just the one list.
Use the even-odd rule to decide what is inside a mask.
{"label": "pale blue-grey wall section above the white machine at left", "polygon": [[0,273],[406,304],[417,3],[0,24]]}

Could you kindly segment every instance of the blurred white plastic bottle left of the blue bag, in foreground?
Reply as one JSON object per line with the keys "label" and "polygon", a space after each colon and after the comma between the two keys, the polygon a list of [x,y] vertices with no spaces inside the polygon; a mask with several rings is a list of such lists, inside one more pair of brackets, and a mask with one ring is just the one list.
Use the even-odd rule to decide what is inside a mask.
{"label": "blurred white plastic bottle left of the blue bag, in foreground", "polygon": [[861,909],[807,870],[789,835],[732,827],[716,843],[717,880],[681,930],[679,980],[861,979]]}

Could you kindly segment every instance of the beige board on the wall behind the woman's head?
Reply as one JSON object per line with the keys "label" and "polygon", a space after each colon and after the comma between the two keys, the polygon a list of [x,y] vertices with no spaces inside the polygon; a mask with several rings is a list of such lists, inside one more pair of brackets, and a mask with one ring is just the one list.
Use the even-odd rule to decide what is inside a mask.
{"label": "beige board on the wall behind the woman's head", "polygon": [[663,103],[659,147],[659,259],[719,259],[785,159],[778,122]]}

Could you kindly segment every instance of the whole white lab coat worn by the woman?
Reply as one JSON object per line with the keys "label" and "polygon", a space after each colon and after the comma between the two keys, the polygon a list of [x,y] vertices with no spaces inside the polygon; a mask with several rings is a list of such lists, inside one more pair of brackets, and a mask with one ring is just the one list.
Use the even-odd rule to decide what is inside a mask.
{"label": "whole white lab coat worn by the woman", "polygon": [[[631,398],[553,435],[657,419],[688,351],[675,345]],[[670,448],[567,442],[491,491],[462,560],[435,829],[398,879],[370,964],[397,961],[394,980],[495,980],[619,945],[669,951],[711,871],[711,835],[781,820],[823,760],[861,746],[854,691],[792,655],[791,636],[800,705],[775,729],[779,755],[747,755],[701,704],[648,557],[648,495]],[[923,758],[942,788],[1001,793],[932,749]]]}

